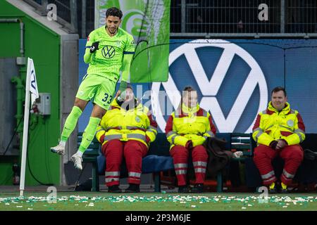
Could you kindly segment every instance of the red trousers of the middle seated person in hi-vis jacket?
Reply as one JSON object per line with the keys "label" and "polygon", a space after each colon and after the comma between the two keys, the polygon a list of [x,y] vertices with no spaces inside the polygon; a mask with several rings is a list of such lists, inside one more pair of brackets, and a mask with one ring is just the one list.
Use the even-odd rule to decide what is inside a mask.
{"label": "red trousers of the middle seated person in hi-vis jacket", "polygon": [[[186,174],[189,150],[183,146],[174,146],[170,149],[170,155],[173,157],[178,186],[186,185]],[[192,148],[192,163],[196,176],[196,184],[204,184],[208,154],[204,146]]]}

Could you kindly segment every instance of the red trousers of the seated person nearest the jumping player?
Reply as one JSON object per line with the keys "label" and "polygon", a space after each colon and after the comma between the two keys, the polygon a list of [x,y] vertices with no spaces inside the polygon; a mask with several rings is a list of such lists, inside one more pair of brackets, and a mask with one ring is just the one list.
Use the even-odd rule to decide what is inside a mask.
{"label": "red trousers of the seated person nearest the jumping player", "polygon": [[147,146],[140,141],[120,141],[114,139],[102,146],[106,157],[106,186],[119,185],[120,166],[125,157],[128,169],[128,183],[140,184],[142,173],[142,158],[147,155]]}

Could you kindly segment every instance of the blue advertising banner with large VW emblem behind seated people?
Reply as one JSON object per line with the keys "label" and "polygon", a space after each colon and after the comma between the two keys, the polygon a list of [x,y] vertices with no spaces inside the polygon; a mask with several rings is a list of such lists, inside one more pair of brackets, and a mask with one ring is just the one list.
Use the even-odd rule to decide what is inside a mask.
{"label": "blue advertising banner with large VW emblem behind seated people", "polygon": [[[317,133],[316,50],[317,40],[170,40],[168,82],[133,87],[154,112],[161,131],[178,107],[182,89],[190,85],[219,132],[251,132],[257,113],[271,101],[271,90],[285,86],[288,102],[302,115],[306,132]],[[84,51],[85,40],[80,40],[80,77],[87,70]],[[91,110],[87,108],[80,118],[80,131]]]}

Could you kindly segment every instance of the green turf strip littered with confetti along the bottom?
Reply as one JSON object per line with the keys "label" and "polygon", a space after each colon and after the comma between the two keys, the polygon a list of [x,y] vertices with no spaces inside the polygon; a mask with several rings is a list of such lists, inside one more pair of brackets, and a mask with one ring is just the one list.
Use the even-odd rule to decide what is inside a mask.
{"label": "green turf strip littered with confetti along the bottom", "polygon": [[113,194],[92,192],[58,192],[57,203],[48,203],[44,192],[0,193],[0,210],[14,211],[80,211],[80,210],[235,210],[235,211],[294,211],[317,210],[316,193],[268,195],[268,203],[259,203],[256,193],[136,193]]}

